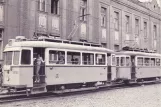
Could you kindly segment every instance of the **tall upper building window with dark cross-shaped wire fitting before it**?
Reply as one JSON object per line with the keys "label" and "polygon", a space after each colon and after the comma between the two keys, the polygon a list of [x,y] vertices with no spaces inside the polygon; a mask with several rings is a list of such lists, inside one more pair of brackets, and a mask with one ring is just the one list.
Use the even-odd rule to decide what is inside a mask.
{"label": "tall upper building window with dark cross-shaped wire fitting before it", "polygon": [[86,21],[87,14],[87,0],[81,0],[80,2],[80,20]]}

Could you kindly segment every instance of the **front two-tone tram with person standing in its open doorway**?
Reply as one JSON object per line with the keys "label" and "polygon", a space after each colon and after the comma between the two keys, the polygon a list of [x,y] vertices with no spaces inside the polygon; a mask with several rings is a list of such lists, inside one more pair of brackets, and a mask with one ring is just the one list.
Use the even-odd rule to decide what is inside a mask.
{"label": "front two-tone tram with person standing in its open doorway", "polygon": [[[40,64],[36,80],[37,56]],[[116,79],[115,54],[97,44],[22,36],[4,49],[3,87],[34,94],[97,87]]]}

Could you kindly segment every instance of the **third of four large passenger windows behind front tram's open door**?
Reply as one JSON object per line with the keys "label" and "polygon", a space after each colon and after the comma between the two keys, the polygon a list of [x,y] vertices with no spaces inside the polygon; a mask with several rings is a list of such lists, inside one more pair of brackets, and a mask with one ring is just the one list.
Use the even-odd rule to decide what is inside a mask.
{"label": "third of four large passenger windows behind front tram's open door", "polygon": [[83,65],[94,65],[94,54],[82,53],[82,64]]}

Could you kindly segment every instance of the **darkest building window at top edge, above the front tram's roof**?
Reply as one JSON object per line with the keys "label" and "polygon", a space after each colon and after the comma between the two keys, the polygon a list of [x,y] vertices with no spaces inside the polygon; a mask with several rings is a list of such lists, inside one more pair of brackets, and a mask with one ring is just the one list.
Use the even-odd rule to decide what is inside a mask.
{"label": "darkest building window at top edge, above the front tram's roof", "polygon": [[51,13],[59,14],[59,0],[51,0]]}

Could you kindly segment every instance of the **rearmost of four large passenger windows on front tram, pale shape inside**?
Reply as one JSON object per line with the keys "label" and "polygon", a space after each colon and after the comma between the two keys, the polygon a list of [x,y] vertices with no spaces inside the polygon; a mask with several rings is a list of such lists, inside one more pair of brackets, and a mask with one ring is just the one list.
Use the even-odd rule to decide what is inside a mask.
{"label": "rearmost of four large passenger windows on front tram, pale shape inside", "polygon": [[106,58],[105,54],[96,54],[96,65],[105,65],[106,64]]}

